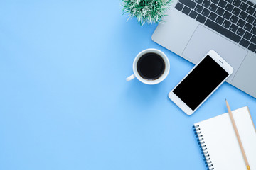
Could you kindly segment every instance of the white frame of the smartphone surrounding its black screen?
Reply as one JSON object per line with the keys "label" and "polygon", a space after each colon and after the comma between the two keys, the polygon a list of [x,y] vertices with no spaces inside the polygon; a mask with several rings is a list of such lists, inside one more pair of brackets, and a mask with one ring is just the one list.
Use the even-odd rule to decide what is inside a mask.
{"label": "white frame of the smartphone surrounding its black screen", "polygon": [[[230,66],[230,64],[228,64],[228,62],[226,62],[222,57],[220,57],[220,55],[218,55],[217,52],[215,52],[214,50],[210,50],[194,67],[193,69],[195,69],[198,64],[200,64],[205,58],[206,56],[210,56],[216,63],[218,63],[220,65],[220,67],[222,67],[223,69],[225,69],[226,72],[228,72],[228,77],[230,77],[230,74],[233,73],[233,67]],[[186,77],[188,77],[188,75],[193,71],[193,69],[191,69],[190,72],[188,72],[188,74],[186,74],[185,77],[183,77],[183,79],[186,79]],[[183,112],[185,112],[187,115],[191,115],[193,114],[206,100],[207,98],[210,97],[211,94],[213,94],[213,92],[218,89],[218,87],[224,83],[224,81],[226,79],[228,79],[228,77],[226,77],[196,108],[195,110],[192,110],[191,108],[189,108],[186,103],[184,103],[181,98],[178,98],[178,96],[176,96],[176,94],[174,94],[174,89],[176,89],[176,87],[181,84],[181,82],[183,81],[183,79],[174,87],[174,89],[172,89],[169,92],[169,98],[171,99],[171,101],[173,101],[174,103],[176,103],[176,105],[181,108],[181,110]]]}

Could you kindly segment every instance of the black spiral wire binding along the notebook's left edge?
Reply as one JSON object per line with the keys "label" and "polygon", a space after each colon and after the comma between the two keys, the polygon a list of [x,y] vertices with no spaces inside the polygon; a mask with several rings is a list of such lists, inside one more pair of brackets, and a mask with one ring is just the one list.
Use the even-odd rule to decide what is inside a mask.
{"label": "black spiral wire binding along the notebook's left edge", "polygon": [[213,170],[214,167],[213,167],[212,161],[210,160],[210,154],[207,150],[206,142],[203,140],[203,135],[199,128],[199,125],[196,125],[196,126],[193,125],[193,131],[196,135],[196,140],[198,141],[198,145],[200,147],[201,154],[203,154],[203,160],[206,163],[206,168],[208,170]]}

